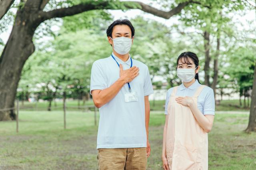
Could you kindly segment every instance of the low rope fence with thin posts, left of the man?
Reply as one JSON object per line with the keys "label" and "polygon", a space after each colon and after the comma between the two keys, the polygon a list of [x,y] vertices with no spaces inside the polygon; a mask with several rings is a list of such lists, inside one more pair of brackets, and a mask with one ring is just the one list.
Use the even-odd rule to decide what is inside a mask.
{"label": "low rope fence with thin posts, left of the man", "polygon": [[[63,121],[64,121],[64,129],[66,129],[66,111],[67,109],[84,109],[84,111],[86,109],[90,110],[92,109],[94,111],[94,125],[97,125],[97,111],[98,108],[95,107],[94,105],[86,105],[86,106],[79,106],[79,107],[67,107],[66,105],[66,100],[64,100],[63,102],[63,106],[58,106],[58,107],[52,107],[54,109],[63,109]],[[51,109],[52,109],[51,108]],[[19,132],[19,111],[20,109],[32,109],[35,110],[33,106],[20,106],[20,101],[16,100],[16,107],[10,107],[10,108],[4,108],[4,109],[0,109],[0,112],[4,112],[4,111],[11,111],[11,110],[16,110],[16,132]],[[36,110],[38,111],[38,110]]]}

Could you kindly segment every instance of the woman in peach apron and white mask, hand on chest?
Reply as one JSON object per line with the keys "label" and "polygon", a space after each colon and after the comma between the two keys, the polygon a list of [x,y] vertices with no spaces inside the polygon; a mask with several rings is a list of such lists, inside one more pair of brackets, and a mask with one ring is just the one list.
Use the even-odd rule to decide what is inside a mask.
{"label": "woman in peach apron and white mask, hand on chest", "polygon": [[177,75],[183,81],[166,95],[163,134],[164,170],[207,170],[208,132],[214,121],[214,93],[201,85],[199,60],[184,52],[177,59]]}

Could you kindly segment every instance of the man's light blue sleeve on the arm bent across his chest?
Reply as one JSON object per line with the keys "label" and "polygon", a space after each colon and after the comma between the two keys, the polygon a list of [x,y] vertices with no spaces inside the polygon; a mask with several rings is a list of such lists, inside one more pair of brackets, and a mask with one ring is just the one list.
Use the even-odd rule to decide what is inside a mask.
{"label": "man's light blue sleeve on the arm bent across his chest", "polygon": [[106,75],[99,62],[95,61],[92,64],[90,94],[92,90],[103,90],[107,88]]}

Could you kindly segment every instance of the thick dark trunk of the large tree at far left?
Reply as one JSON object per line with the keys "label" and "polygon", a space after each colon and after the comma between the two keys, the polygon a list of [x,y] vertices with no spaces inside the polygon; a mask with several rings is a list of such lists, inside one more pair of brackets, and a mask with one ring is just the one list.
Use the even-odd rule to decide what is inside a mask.
{"label": "thick dark trunk of the large tree at far left", "polygon": [[[14,107],[18,82],[25,61],[34,52],[32,42],[36,23],[31,11],[18,10],[12,32],[0,57],[0,109]],[[0,121],[14,120],[14,111],[1,111]]]}

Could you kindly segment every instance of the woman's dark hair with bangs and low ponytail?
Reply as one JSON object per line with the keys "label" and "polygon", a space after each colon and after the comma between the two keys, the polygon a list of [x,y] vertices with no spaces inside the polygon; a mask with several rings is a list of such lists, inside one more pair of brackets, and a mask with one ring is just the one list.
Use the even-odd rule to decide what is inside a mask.
{"label": "woman's dark hair with bangs and low ponytail", "polygon": [[[196,65],[196,67],[198,67],[198,65],[199,65],[199,59],[198,59],[197,55],[195,53],[193,53],[193,52],[190,52],[190,51],[184,52],[184,53],[180,54],[180,56],[177,59],[177,68],[178,68],[178,62],[180,61],[180,59],[184,59],[185,63],[183,63],[183,64],[192,64],[190,62],[192,60],[193,63]],[[198,73],[196,73],[195,79],[197,79],[198,82],[200,83],[199,77],[198,77]]]}

